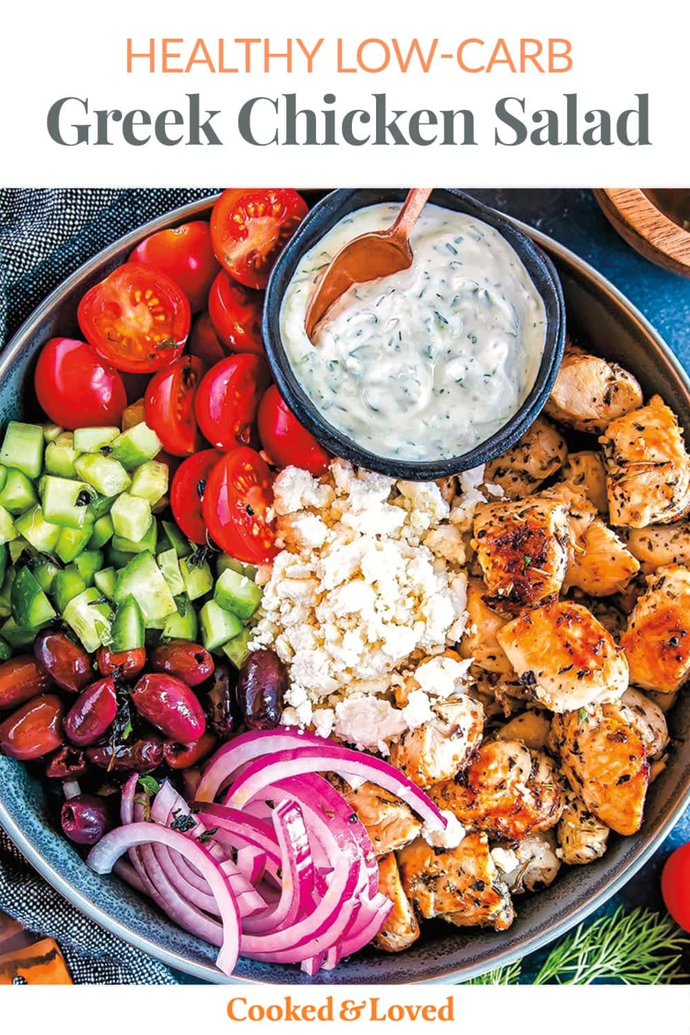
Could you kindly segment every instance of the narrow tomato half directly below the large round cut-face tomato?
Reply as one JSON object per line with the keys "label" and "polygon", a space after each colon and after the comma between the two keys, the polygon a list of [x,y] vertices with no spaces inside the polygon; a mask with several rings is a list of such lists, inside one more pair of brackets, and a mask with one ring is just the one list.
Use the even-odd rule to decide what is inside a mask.
{"label": "narrow tomato half directly below the large round cut-face tomato", "polygon": [[183,356],[154,374],[146,389],[144,419],[174,456],[188,456],[202,448],[194,395],[205,373],[199,356]]}

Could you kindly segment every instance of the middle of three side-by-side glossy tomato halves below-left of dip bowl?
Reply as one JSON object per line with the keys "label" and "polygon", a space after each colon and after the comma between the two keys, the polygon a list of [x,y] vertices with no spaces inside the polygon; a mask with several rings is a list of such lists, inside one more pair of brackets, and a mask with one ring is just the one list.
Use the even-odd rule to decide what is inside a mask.
{"label": "middle of three side-by-side glossy tomato halves below-left of dip bowl", "polygon": [[194,413],[202,434],[216,449],[246,444],[259,402],[271,383],[268,363],[242,353],[212,366],[194,396]]}

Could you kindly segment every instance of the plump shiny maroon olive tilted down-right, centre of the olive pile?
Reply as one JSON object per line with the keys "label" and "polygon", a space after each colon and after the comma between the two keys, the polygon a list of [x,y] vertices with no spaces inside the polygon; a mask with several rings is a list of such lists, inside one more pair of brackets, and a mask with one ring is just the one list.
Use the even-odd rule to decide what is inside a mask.
{"label": "plump shiny maroon olive tilted down-right, centre of the olive pile", "polygon": [[206,716],[196,694],[176,676],[147,673],[131,691],[131,703],[151,726],[181,744],[199,740]]}

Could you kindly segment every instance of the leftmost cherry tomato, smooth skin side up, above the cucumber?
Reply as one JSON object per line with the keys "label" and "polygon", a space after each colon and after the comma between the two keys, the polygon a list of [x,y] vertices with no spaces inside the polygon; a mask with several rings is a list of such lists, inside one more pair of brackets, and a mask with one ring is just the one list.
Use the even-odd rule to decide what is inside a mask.
{"label": "leftmost cherry tomato, smooth skin side up, above the cucumber", "polygon": [[118,424],[127,405],[122,378],[86,342],[52,337],[34,375],[41,410],[61,427]]}

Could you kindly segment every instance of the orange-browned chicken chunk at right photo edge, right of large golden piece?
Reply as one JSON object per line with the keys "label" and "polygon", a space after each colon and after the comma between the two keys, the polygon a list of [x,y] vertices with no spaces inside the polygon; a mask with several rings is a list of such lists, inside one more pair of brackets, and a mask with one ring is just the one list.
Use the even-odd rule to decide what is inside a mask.
{"label": "orange-browned chicken chunk at right photo edge, right of large golden piece", "polygon": [[690,568],[667,564],[647,585],[621,646],[635,686],[672,693],[690,677]]}

